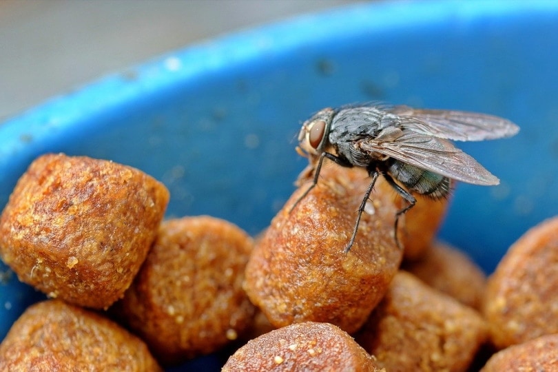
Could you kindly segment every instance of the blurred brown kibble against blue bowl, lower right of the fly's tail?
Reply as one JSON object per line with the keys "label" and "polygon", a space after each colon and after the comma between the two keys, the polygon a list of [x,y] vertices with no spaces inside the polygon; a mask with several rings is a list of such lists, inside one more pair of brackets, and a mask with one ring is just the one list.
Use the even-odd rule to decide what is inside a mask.
{"label": "blurred brown kibble against blue bowl, lower right of the fly's tail", "polygon": [[404,262],[403,268],[462,304],[480,309],[486,275],[459,249],[434,242],[421,258]]}

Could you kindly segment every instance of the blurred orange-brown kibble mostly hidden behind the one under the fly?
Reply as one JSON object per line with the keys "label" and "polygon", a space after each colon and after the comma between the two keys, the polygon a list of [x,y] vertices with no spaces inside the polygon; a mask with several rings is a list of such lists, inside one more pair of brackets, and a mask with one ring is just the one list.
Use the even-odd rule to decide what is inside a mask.
{"label": "blurred orange-brown kibble mostly hidden behind the one under the fly", "polygon": [[405,228],[401,234],[406,260],[417,260],[432,245],[449,205],[448,198],[433,199],[419,194],[413,196],[417,203],[406,212]]}

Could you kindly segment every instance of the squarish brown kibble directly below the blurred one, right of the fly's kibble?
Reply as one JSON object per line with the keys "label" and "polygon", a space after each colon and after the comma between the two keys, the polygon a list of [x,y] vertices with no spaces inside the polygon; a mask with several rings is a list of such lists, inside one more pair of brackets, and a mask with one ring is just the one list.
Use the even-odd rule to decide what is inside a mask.
{"label": "squarish brown kibble directly below the blurred one, right of the fly's kibble", "polygon": [[400,271],[356,339],[387,371],[465,371],[486,339],[484,320]]}

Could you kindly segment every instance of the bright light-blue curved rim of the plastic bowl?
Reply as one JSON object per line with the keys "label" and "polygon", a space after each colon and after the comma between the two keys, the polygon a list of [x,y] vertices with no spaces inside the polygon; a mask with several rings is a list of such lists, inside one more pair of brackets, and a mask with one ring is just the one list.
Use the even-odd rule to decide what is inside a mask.
{"label": "bright light-blue curved rim of the plastic bowl", "polygon": [[76,124],[81,128],[95,125],[95,121],[85,121],[85,118],[270,55],[288,54],[305,45],[335,40],[340,35],[373,31],[382,37],[389,29],[409,25],[440,27],[457,20],[526,17],[528,13],[551,11],[558,12],[558,2],[379,1],[301,14],[225,34],[107,74],[7,118],[0,123],[0,170],[12,156],[29,156],[26,153],[31,151],[34,141],[60,138]]}

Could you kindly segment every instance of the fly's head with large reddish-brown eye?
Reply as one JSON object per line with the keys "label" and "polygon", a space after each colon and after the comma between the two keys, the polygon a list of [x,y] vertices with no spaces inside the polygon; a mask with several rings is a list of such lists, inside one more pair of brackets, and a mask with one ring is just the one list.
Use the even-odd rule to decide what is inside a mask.
{"label": "fly's head with large reddish-brown eye", "polygon": [[325,108],[304,121],[298,134],[298,147],[296,151],[301,156],[309,158],[314,163],[329,147],[329,131],[335,111]]}

